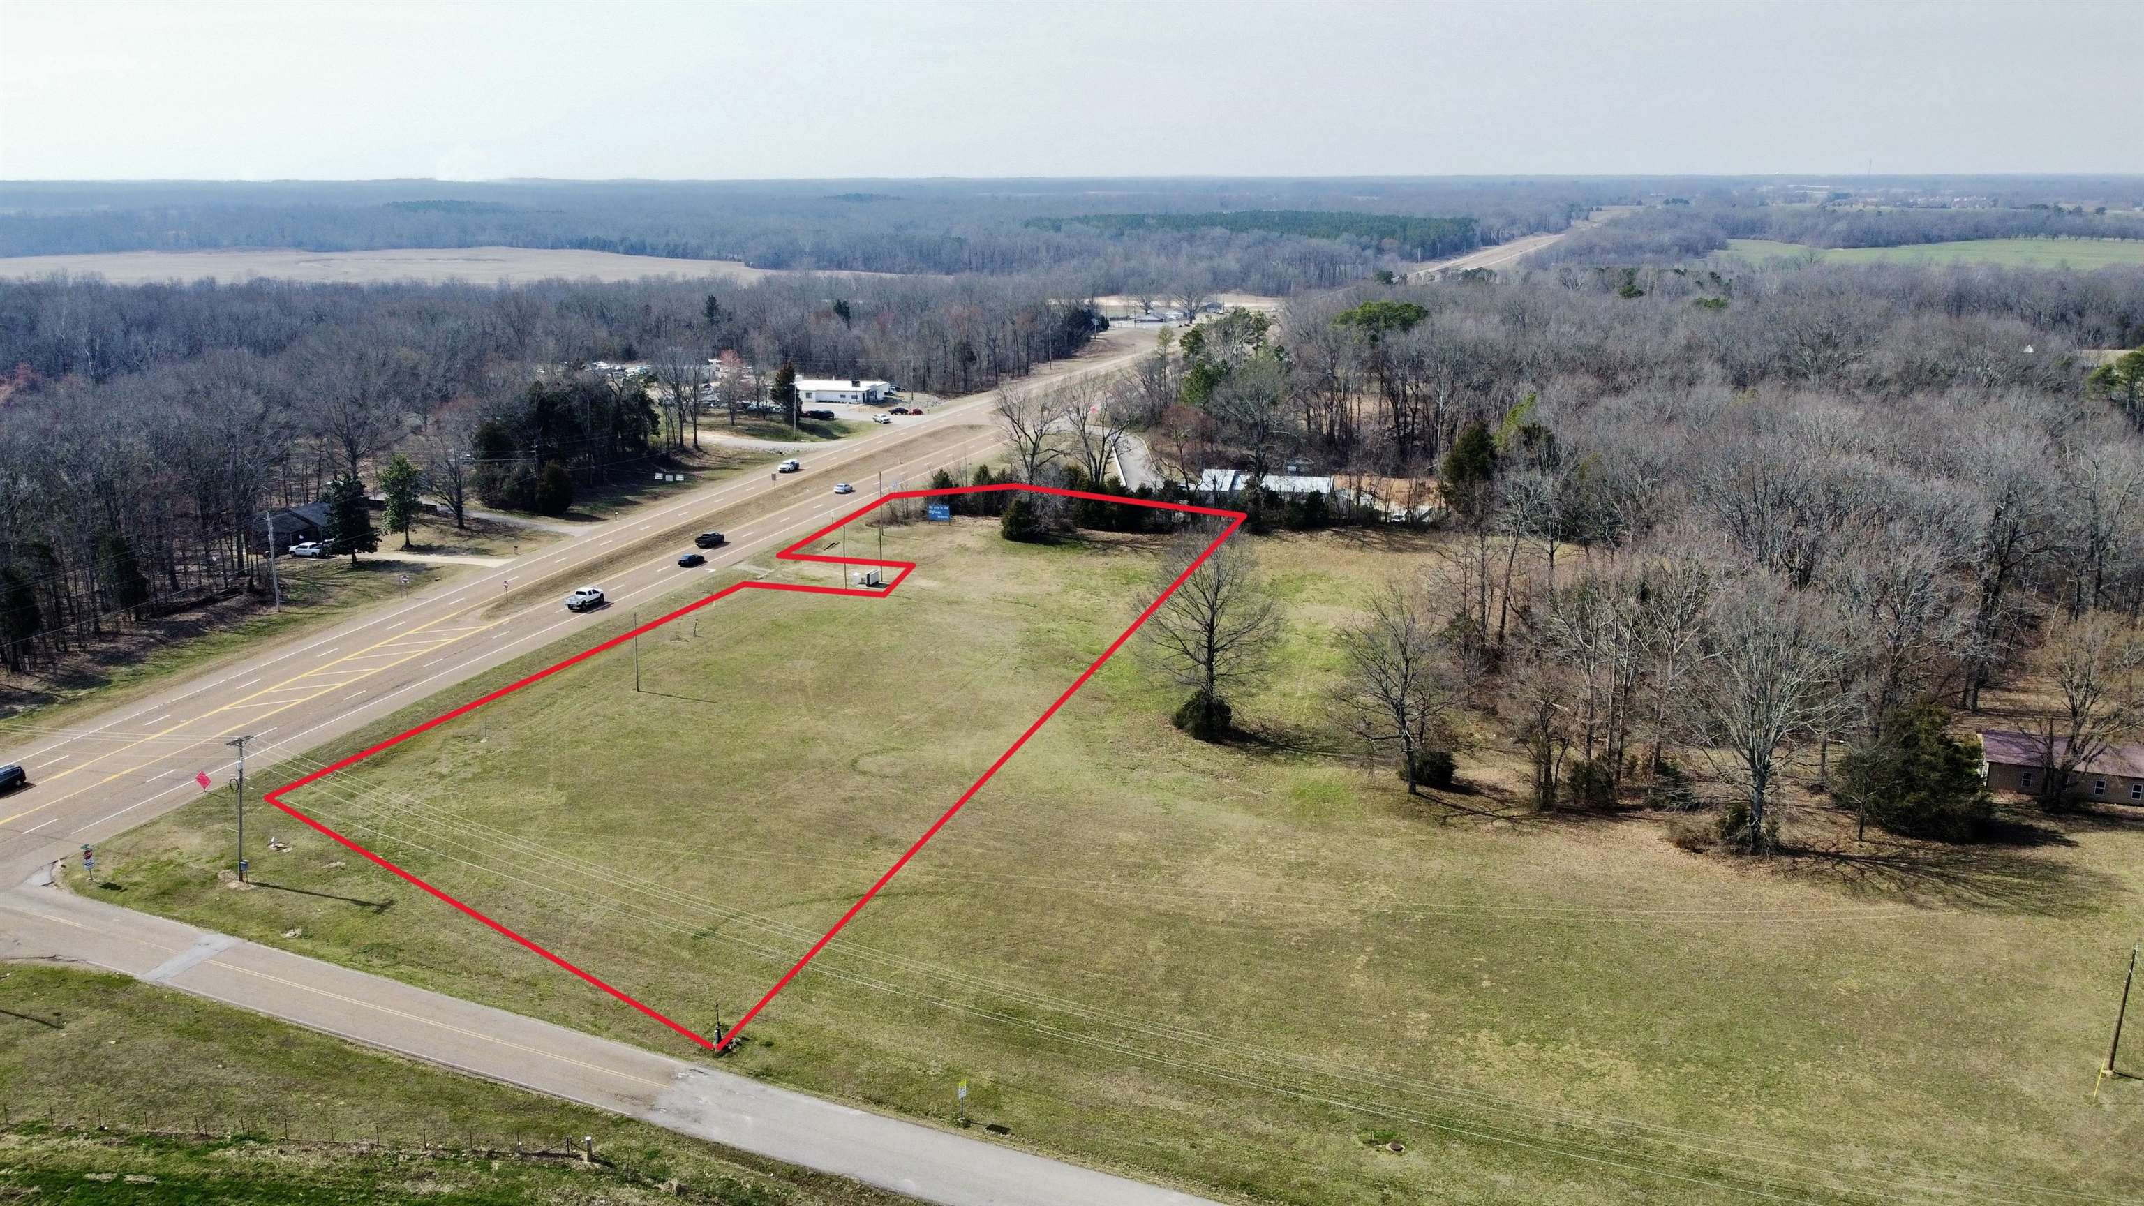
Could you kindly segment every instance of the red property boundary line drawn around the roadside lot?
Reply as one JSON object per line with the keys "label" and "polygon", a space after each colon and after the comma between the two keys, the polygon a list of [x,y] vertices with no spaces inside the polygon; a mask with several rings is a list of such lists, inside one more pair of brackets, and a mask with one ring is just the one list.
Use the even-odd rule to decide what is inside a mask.
{"label": "red property boundary line drawn around the roadside lot", "polygon": [[1057,494],[1057,496],[1063,496],[1063,498],[1089,498],[1089,500],[1096,500],[1096,502],[1121,502],[1126,506],[1149,506],[1149,509],[1156,509],[1156,511],[1179,511],[1179,513],[1188,513],[1188,515],[1211,515],[1216,519],[1226,519],[1229,524],[1220,530],[1218,536],[1214,536],[1214,541],[1205,549],[1198,551],[1196,558],[1192,558],[1192,562],[1188,567],[1183,567],[1183,573],[1179,573],[1168,584],[1168,588],[1162,590],[1153,599],[1153,603],[1149,603],[1147,609],[1141,612],[1138,618],[1132,620],[1132,624],[1128,629],[1123,629],[1123,633],[1117,635],[1117,639],[1108,642],[1108,648],[1104,648],[1102,655],[1096,657],[1087,665],[1087,670],[1083,670],[1081,676],[1074,678],[1072,685],[1066,687],[1063,693],[1059,693],[1057,700],[1053,700],[1051,706],[1044,708],[1042,715],[1036,717],[1033,723],[1029,723],[1021,732],[1021,736],[1012,740],[1010,747],[1006,747],[1006,753],[999,753],[997,762],[993,762],[988,770],[984,770],[973,783],[969,783],[969,788],[965,792],[961,792],[961,798],[954,800],[952,807],[948,807],[943,813],[939,813],[939,818],[935,822],[930,822],[930,828],[926,828],[922,833],[922,837],[918,837],[907,850],[900,852],[900,858],[894,858],[894,865],[888,867],[885,873],[879,876],[870,884],[870,888],[864,891],[864,895],[855,899],[853,906],[849,906],[849,912],[840,914],[840,921],[836,921],[832,927],[828,927],[828,931],[821,933],[819,940],[810,944],[810,951],[804,951],[804,955],[795,964],[791,964],[791,968],[787,972],[783,972],[783,979],[774,981],[774,987],[770,987],[759,998],[759,1002],[755,1002],[753,1009],[748,1009],[744,1013],[744,1017],[738,1019],[735,1026],[731,1026],[729,1030],[723,1032],[723,1045],[729,1045],[729,1043],[733,1043],[744,1032],[746,1026],[750,1026],[750,1021],[755,1017],[759,1017],[759,1011],[765,1009],[768,1002],[774,1000],[776,994],[780,994],[785,987],[789,987],[789,981],[793,981],[795,974],[802,972],[806,964],[810,964],[813,959],[817,959],[819,951],[823,951],[825,944],[832,942],[834,936],[840,933],[840,929],[845,925],[849,925],[849,921],[855,918],[855,914],[862,912],[866,903],[870,903],[870,897],[879,895],[879,888],[883,888],[888,882],[892,882],[892,878],[898,876],[900,869],[909,865],[909,858],[915,858],[915,854],[933,837],[937,837],[937,833],[941,828],[946,828],[946,822],[950,822],[963,807],[967,807],[967,803],[971,798],[976,798],[976,792],[980,792],[982,785],[988,783],[991,777],[997,775],[997,770],[1001,766],[1006,766],[1006,762],[1012,762],[1012,755],[1018,753],[1023,745],[1027,745],[1027,738],[1036,736],[1036,732],[1042,730],[1042,725],[1048,723],[1048,719],[1057,715],[1057,708],[1063,708],[1066,702],[1072,700],[1072,693],[1078,691],[1081,687],[1085,687],[1087,680],[1093,678],[1093,674],[1098,670],[1102,670],[1102,663],[1106,663],[1119,648],[1123,648],[1123,642],[1132,639],[1132,633],[1136,633],[1138,627],[1145,624],[1147,618],[1153,616],[1153,612],[1158,612],[1162,607],[1162,603],[1166,603],[1168,597],[1175,594],[1177,588],[1183,586],[1183,582],[1201,564],[1205,564],[1205,560],[1209,556],[1214,556],[1214,549],[1218,549],[1222,545],[1222,541],[1226,541],[1229,536],[1233,536],[1235,530],[1244,526],[1246,515],[1241,511],[1224,511],[1224,509],[1218,509],[1218,506],[1192,506],[1188,502],[1160,502],[1160,500],[1151,500],[1151,498],[1121,498],[1121,496],[1115,496],[1115,494],[1091,494],[1091,491],[1085,491],[1085,489],[1057,489],[1057,487],[1048,487],[1048,485],[1021,485],[1021,483],[967,485],[967,487],[952,487],[952,489],[900,489],[900,491],[881,496],[881,498],[877,498],[873,502],[866,502],[864,506],[851,511],[849,515],[843,515],[840,519],[834,519],[832,524],[819,528],[817,532],[810,532],[808,536],[798,539],[795,543],[791,543],[791,545],[783,547],[778,554],[774,554],[776,560],[800,560],[800,562],[823,562],[823,564],[855,564],[855,567],[896,569],[898,573],[894,573],[894,579],[888,582],[885,586],[879,586],[879,588],[853,588],[853,586],[804,586],[804,584],[787,584],[787,582],[738,582],[738,584],[725,586],[723,590],[716,590],[714,594],[708,594],[705,599],[697,599],[693,603],[686,603],[684,607],[678,607],[669,616],[660,616],[656,620],[650,620],[650,622],[645,622],[645,624],[641,624],[641,627],[637,627],[637,629],[632,629],[628,633],[622,633],[617,637],[611,637],[611,639],[607,639],[607,642],[602,642],[602,644],[598,644],[598,646],[594,646],[590,650],[581,650],[581,652],[568,657],[566,661],[560,661],[555,665],[547,665],[547,667],[538,670],[536,674],[530,674],[527,678],[521,678],[519,682],[510,682],[506,687],[500,687],[497,691],[493,691],[493,693],[489,693],[489,695],[485,695],[480,700],[472,700],[472,702],[467,702],[467,704],[463,704],[463,706],[459,706],[459,708],[455,708],[450,712],[442,712],[442,715],[437,715],[437,717],[433,717],[433,719],[429,719],[429,721],[425,721],[425,723],[420,723],[420,725],[416,725],[412,730],[403,730],[403,732],[399,732],[399,734],[394,734],[394,736],[390,736],[390,738],[386,738],[386,740],[382,740],[382,742],[377,742],[373,747],[360,749],[358,753],[352,753],[349,758],[345,758],[341,762],[334,762],[330,766],[322,766],[319,770],[313,770],[304,779],[296,779],[292,783],[283,783],[281,788],[277,788],[272,792],[266,792],[262,796],[262,800],[266,800],[266,803],[283,809],[285,813],[289,813],[298,822],[311,826],[317,833],[324,833],[326,837],[339,841],[341,845],[349,848],[352,852],[364,856],[369,863],[373,863],[377,867],[384,867],[386,871],[392,871],[394,876],[407,880],[410,884],[416,884],[425,893],[437,897],[440,901],[446,901],[446,903],[455,906],[463,914],[467,914],[467,916],[485,923],[487,927],[491,927],[497,933],[504,933],[506,938],[519,942],[521,946],[534,951],[536,955],[542,955],[551,964],[557,964],[560,968],[564,968],[564,970],[572,972],[575,976],[587,981],[590,985],[594,985],[594,987],[611,994],[613,998],[630,1004],[632,1009],[645,1013],[647,1017],[660,1021],[662,1026],[669,1026],[671,1030],[675,1030],[678,1034],[682,1034],[682,1036],[699,1043],[701,1047],[714,1047],[716,1045],[714,1039],[708,1039],[705,1034],[699,1034],[699,1032],[690,1030],[688,1026],[682,1026],[682,1024],[673,1021],[671,1017],[665,1017],[662,1013],[650,1009],[647,1004],[641,1004],[632,996],[628,996],[628,994],[611,987],[609,983],[600,981],[598,976],[594,976],[590,972],[583,972],[581,968],[577,968],[577,966],[568,964],[566,959],[553,955],[549,948],[540,946],[538,942],[532,942],[532,940],[523,938],[521,933],[515,933],[512,929],[500,925],[497,921],[485,916],[482,912],[478,912],[478,910],[465,906],[463,901],[459,901],[459,899],[442,893],[440,888],[427,884],[425,880],[412,876],[410,871],[403,871],[401,867],[397,867],[394,863],[382,858],[379,854],[373,854],[364,845],[360,845],[360,843],[343,837],[341,833],[328,828],[326,824],[322,824],[322,822],[309,818],[307,813],[298,811],[296,807],[283,803],[283,794],[292,792],[296,788],[304,788],[307,783],[326,779],[328,775],[334,775],[337,770],[343,770],[343,768],[354,766],[358,762],[364,762],[367,758],[371,758],[371,755],[375,755],[375,753],[379,753],[384,749],[392,749],[392,747],[397,747],[397,745],[414,738],[420,732],[440,727],[446,721],[452,721],[455,717],[474,712],[476,708],[482,708],[485,704],[489,704],[493,700],[512,695],[515,691],[519,691],[519,689],[523,689],[523,687],[527,687],[532,682],[540,682],[540,680],[557,674],[560,670],[566,670],[568,665],[577,665],[581,661],[587,661],[590,657],[596,657],[602,650],[609,650],[609,648],[615,648],[615,646],[620,646],[624,642],[630,642],[632,637],[637,637],[641,633],[647,633],[652,629],[660,629],[662,624],[669,624],[671,620],[675,620],[680,616],[690,616],[693,612],[699,612],[701,607],[714,603],[716,599],[727,599],[727,597],[731,597],[731,594],[735,594],[740,590],[795,590],[800,594],[853,594],[853,597],[862,597],[862,599],[885,599],[888,594],[894,592],[896,586],[900,586],[903,579],[907,579],[907,575],[915,569],[915,562],[905,562],[905,560],[873,560],[873,558],[830,558],[830,556],[817,556],[817,554],[800,554],[798,549],[802,549],[804,545],[817,541],[819,536],[825,536],[828,532],[832,532],[832,530],[836,530],[836,528],[840,528],[840,526],[845,526],[845,524],[849,524],[853,519],[860,519],[860,517],[877,511],[879,506],[885,506],[888,502],[898,502],[903,498],[946,498],[946,496],[956,496],[956,494],[997,494],[997,491],[1033,491],[1033,494]]}

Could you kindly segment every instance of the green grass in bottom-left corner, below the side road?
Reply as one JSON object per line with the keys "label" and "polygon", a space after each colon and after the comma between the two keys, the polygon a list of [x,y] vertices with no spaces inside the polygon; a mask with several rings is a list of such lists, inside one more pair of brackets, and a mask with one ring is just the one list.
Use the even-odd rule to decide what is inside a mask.
{"label": "green grass in bottom-left corner, below the side road", "polygon": [[[0,966],[0,1202],[907,1202],[126,976]],[[581,1135],[600,1163],[512,1154]]]}

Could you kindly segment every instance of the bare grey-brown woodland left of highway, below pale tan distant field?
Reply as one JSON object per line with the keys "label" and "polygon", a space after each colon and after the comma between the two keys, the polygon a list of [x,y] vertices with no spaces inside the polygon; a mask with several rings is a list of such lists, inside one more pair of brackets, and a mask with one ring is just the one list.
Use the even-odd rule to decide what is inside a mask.
{"label": "bare grey-brown woodland left of highway, below pale tan distant field", "polygon": [[701,406],[761,397],[780,365],[941,393],[1021,376],[1098,326],[1059,294],[1012,277],[0,285],[0,650],[21,667],[259,586],[262,513],[390,448],[457,517],[555,498],[562,476],[570,500],[682,448]]}

